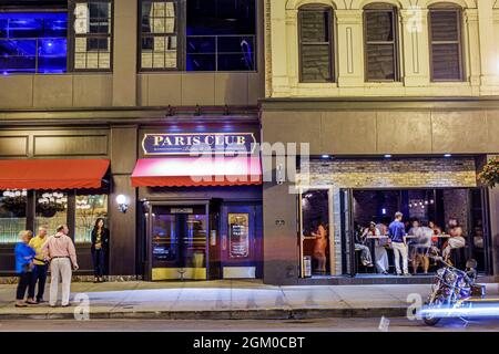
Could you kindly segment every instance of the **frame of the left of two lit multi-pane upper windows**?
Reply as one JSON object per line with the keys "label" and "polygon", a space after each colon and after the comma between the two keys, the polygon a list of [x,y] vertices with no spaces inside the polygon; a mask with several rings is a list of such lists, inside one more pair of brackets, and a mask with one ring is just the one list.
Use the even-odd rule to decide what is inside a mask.
{"label": "frame of the left of two lit multi-pane upper windows", "polygon": [[[109,38],[110,40],[110,65],[109,67],[85,67],[85,69],[77,69],[74,67],[74,59],[77,58],[75,53],[75,44],[77,44],[77,38],[98,38],[102,39],[104,38],[102,34],[98,35],[89,35],[88,34],[77,34],[74,31],[74,9],[77,3],[85,3],[85,2],[109,2],[111,4],[111,31],[109,34],[106,34],[105,38]],[[69,18],[68,18],[68,60],[70,61],[68,65],[69,72],[75,72],[75,73],[112,73],[114,71],[114,0],[70,0],[68,3],[68,11],[69,11]]]}

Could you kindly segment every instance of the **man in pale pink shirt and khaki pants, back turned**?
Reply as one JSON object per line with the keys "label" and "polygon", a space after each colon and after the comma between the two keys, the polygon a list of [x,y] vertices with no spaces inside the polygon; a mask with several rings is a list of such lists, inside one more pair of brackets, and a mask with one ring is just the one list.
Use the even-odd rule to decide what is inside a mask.
{"label": "man in pale pink shirt and khaki pants, back turned", "polygon": [[62,279],[62,306],[70,305],[72,270],[78,270],[77,250],[73,241],[68,236],[68,226],[61,225],[54,236],[49,237],[43,246],[43,252],[50,260],[50,306],[54,308],[58,302],[59,279]]}

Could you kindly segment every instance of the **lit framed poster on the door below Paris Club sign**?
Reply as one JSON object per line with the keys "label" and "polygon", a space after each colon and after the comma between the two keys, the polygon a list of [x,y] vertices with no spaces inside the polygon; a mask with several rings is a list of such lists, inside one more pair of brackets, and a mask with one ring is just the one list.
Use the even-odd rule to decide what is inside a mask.
{"label": "lit framed poster on the door below Paris Club sign", "polygon": [[228,214],[228,257],[249,256],[249,215]]}

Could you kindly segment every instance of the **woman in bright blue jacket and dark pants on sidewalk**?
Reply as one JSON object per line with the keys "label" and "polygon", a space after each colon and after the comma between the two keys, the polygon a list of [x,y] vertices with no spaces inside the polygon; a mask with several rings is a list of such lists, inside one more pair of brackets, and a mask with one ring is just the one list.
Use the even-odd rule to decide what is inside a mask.
{"label": "woman in bright blue jacket and dark pants on sidewalk", "polygon": [[32,232],[29,230],[23,230],[19,232],[20,242],[16,244],[16,272],[19,275],[18,290],[16,293],[16,308],[26,308],[24,295],[26,290],[30,285],[32,269],[33,269],[33,258],[34,250],[29,246],[32,237]]}

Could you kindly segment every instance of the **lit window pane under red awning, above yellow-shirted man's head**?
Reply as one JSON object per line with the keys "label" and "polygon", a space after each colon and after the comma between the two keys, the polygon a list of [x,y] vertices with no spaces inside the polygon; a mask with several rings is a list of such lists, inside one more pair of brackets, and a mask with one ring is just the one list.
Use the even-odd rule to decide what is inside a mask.
{"label": "lit window pane under red awning, above yellow-shirted man's head", "polygon": [[49,235],[55,233],[58,226],[68,223],[68,195],[61,191],[37,192],[34,230],[44,226]]}

